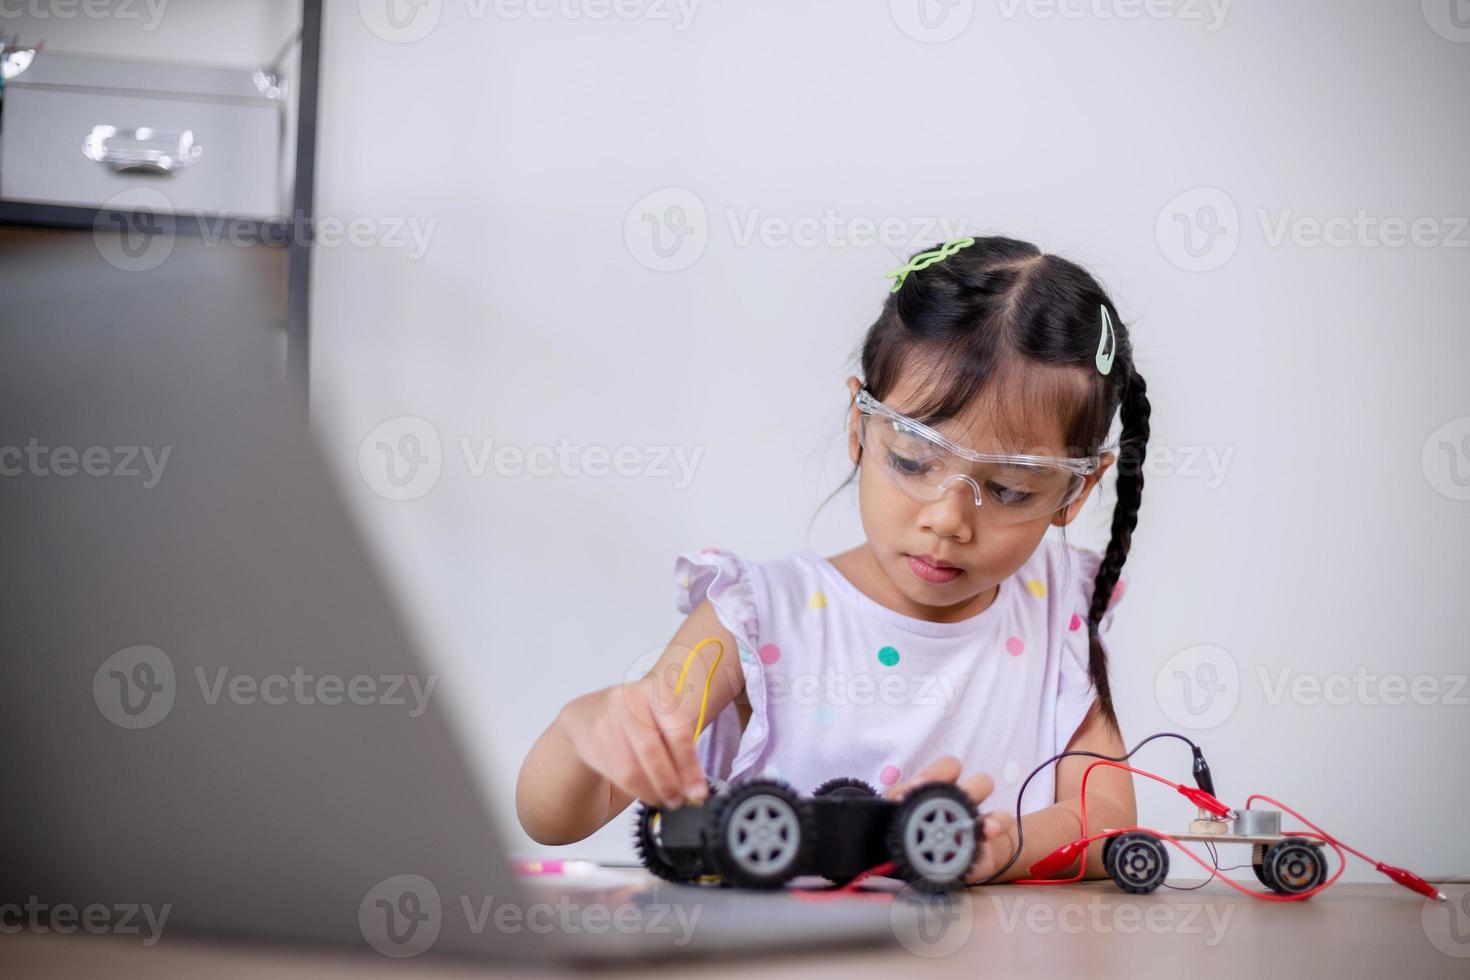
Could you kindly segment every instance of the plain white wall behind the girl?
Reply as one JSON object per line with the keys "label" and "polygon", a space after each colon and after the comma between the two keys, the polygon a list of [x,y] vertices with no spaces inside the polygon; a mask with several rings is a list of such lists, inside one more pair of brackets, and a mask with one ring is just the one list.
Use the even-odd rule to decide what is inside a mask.
{"label": "plain white wall behind the girl", "polygon": [[[1108,16],[1132,7],[1107,0],[1070,3],[1080,18],[963,0],[948,28],[973,19],[944,43],[889,6],[707,0],[676,29],[435,0],[395,29],[373,4],[328,3],[319,209],[378,245],[318,250],[315,411],[470,716],[513,846],[545,851],[512,810],[531,742],[676,627],[678,551],[860,539],[851,495],[803,535],[844,475],[848,356],[907,247],[741,244],[728,217],[833,212],[908,220],[922,242],[942,235],[919,219],[966,220],[1083,263],[1132,329],[1154,448],[1232,454],[1222,480],[1176,463],[1148,482],[1113,635],[1125,733],[1192,721],[1230,801],[1269,792],[1396,864],[1470,871],[1470,707],[1452,691],[1470,667],[1470,502],[1438,442],[1421,466],[1442,423],[1460,420],[1452,442],[1470,426],[1467,232],[1267,237],[1288,212],[1470,215],[1470,43],[1417,3],[1372,0],[1238,3],[1214,29]],[[666,187],[707,213],[707,247],[678,272],[625,241]],[[1214,191],[1173,201],[1200,187]],[[1205,256],[1219,267],[1182,267],[1173,213],[1207,220],[1197,206],[1226,198],[1239,220]],[[392,247],[400,220],[431,232],[422,254]],[[390,501],[359,448],[400,416],[432,426],[441,475]],[[682,489],[476,478],[462,438],[703,457]],[[1073,541],[1105,542],[1107,491]],[[1204,676],[1200,645],[1225,648],[1238,682],[1188,714],[1175,671]],[[1424,674],[1438,702],[1273,704],[1282,667]],[[1139,758],[1188,773],[1172,748]],[[1144,792],[1145,821],[1189,817]],[[626,858],[628,827],[566,851]]]}

